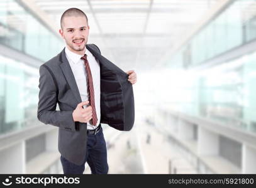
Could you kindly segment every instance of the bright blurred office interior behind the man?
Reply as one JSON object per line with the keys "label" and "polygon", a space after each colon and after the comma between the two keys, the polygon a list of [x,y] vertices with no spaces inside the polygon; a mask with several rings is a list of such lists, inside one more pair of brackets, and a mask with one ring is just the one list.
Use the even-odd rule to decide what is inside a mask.
{"label": "bright blurred office interior behind the man", "polygon": [[73,7],[88,43],[138,75],[133,130],[103,125],[109,174],[256,173],[256,0],[1,0],[0,174],[63,173],[38,68]]}

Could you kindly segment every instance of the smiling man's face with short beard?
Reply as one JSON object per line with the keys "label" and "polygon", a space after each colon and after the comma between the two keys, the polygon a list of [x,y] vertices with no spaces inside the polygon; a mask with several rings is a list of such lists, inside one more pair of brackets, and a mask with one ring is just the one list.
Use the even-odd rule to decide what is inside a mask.
{"label": "smiling man's face with short beard", "polygon": [[[62,30],[63,29],[63,30]],[[70,51],[84,55],[89,34],[89,26],[85,16],[66,16],[62,22],[60,35]]]}

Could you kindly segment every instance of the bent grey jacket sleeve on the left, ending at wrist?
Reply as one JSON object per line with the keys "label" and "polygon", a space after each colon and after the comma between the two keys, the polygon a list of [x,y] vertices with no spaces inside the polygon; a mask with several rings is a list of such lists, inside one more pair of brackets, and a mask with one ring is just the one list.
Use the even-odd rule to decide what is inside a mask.
{"label": "bent grey jacket sleeve on the left, ending at wrist", "polygon": [[40,122],[75,131],[73,111],[56,110],[58,88],[47,65],[40,66],[37,118]]}

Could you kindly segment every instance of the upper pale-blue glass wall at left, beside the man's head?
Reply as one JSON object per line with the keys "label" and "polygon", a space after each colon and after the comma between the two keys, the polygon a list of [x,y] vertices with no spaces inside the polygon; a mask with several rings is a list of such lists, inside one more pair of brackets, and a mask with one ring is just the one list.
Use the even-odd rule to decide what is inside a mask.
{"label": "upper pale-blue glass wall at left, beside the man's head", "polygon": [[64,43],[18,1],[0,1],[0,44],[47,61]]}

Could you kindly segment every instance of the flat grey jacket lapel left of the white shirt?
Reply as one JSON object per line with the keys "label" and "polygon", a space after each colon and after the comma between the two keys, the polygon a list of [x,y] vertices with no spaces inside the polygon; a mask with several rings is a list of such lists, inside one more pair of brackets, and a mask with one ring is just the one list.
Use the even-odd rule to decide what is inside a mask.
{"label": "flat grey jacket lapel left of the white shirt", "polygon": [[67,58],[65,55],[65,48],[61,52],[60,61],[62,61],[62,63],[60,64],[60,68],[62,69],[62,72],[64,73],[67,83],[69,83],[70,89],[74,93],[75,98],[77,99],[77,102],[81,103],[82,99],[81,99],[81,96],[80,96],[80,93],[79,93],[79,90],[77,87],[77,83],[75,82],[75,76],[73,75],[73,72],[69,65],[69,61],[67,61]]}

